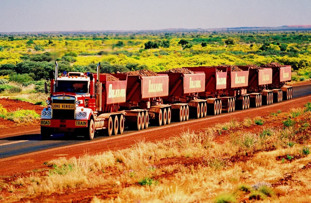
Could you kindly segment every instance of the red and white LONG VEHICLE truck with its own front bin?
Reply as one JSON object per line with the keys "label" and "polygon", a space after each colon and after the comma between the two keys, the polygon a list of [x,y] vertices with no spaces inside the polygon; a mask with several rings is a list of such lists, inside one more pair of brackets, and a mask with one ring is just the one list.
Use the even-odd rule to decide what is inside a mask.
{"label": "red and white LONG VEHICLE truck with its own front bin", "polygon": [[119,103],[126,100],[127,77],[109,81],[107,75],[97,73],[63,72],[58,76],[55,61],[55,78],[50,74],[50,97],[41,112],[41,136],[49,139],[52,133],[83,135],[92,140],[99,134],[122,134],[125,111]]}

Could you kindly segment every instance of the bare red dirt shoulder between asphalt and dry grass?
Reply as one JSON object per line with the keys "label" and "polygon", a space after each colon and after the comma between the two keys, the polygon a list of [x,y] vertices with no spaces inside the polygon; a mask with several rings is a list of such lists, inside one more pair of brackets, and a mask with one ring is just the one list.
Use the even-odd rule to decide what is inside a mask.
{"label": "bare red dirt shoulder between asphalt and dry grass", "polygon": [[[11,157],[0,160],[0,175],[10,175],[16,173],[22,173],[27,170],[42,169],[46,166],[43,165],[45,161],[55,158],[56,154],[68,154],[66,157],[79,157],[86,153],[97,154],[108,150],[119,150],[128,148],[135,144],[138,140],[145,140],[146,142],[156,142],[165,140],[173,136],[178,136],[181,132],[190,130],[202,130],[216,123],[228,122],[232,119],[243,120],[248,117],[251,118],[256,112],[257,116],[265,116],[270,112],[277,110],[288,111],[290,108],[303,107],[304,104],[311,100],[311,96],[301,97],[284,101],[280,104],[273,104],[264,106],[259,109],[248,109],[241,111],[235,111],[229,114],[221,114],[217,116],[211,116],[199,120],[191,120],[188,122],[176,123],[161,128],[153,128],[142,130],[139,132],[133,132],[125,135],[109,137],[106,139],[100,139],[91,142],[83,142],[80,144],[58,147],[54,149],[38,151],[26,155]],[[225,137],[224,137],[225,139]],[[6,167],[6,166],[10,167]]]}

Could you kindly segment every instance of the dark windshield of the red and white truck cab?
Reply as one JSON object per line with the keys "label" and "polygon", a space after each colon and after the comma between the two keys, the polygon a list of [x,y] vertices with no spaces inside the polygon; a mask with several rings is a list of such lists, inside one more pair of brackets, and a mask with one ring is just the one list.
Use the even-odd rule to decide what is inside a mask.
{"label": "dark windshield of the red and white truck cab", "polygon": [[88,93],[87,81],[57,81],[57,92]]}

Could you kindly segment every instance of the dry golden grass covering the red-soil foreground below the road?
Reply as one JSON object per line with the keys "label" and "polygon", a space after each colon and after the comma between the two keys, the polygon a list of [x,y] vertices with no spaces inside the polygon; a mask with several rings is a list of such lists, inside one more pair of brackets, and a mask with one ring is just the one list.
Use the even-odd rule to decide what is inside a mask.
{"label": "dry golden grass covering the red-soil foreground below the road", "polygon": [[[299,109],[287,115],[292,112],[300,114],[293,118],[296,124],[291,127],[282,125],[286,116],[281,113],[275,121],[280,124],[278,128],[263,125],[262,131],[256,133],[235,130],[224,143],[216,143],[215,132],[224,126],[246,126],[245,120],[231,121],[198,133],[188,130],[162,142],[141,140],[128,149],[52,160],[45,176],[17,178],[14,184],[19,189],[4,187],[13,194],[17,192],[19,198],[74,188],[114,187],[118,191],[117,198],[94,197],[92,202],[233,202],[248,199],[250,194],[260,196],[262,202],[293,202],[296,198],[308,202],[311,170],[301,168],[311,161],[310,155],[302,153],[303,147],[310,144],[310,126],[304,123],[310,122],[311,114]],[[288,154],[299,154],[301,158],[292,162],[276,160]],[[245,160],[230,158],[239,156]],[[184,164],[183,160],[194,162]],[[288,185],[252,188],[251,193],[241,190],[241,184],[277,183],[284,174],[293,174]]]}

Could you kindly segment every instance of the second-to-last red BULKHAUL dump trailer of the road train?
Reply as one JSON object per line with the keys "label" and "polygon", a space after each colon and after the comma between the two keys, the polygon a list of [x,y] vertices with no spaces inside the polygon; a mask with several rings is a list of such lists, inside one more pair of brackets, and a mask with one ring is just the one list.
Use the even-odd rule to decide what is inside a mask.
{"label": "second-to-last red BULKHAUL dump trailer of the road train", "polygon": [[[238,66],[239,68],[244,68],[247,66]],[[271,68],[261,68],[255,66],[249,69],[248,76],[248,87],[247,92],[250,95],[250,106],[259,107],[262,105],[269,105],[273,103],[274,91],[268,88],[268,85],[272,83],[272,69]],[[281,102],[280,95],[281,91],[276,91],[277,97],[276,102]]]}

